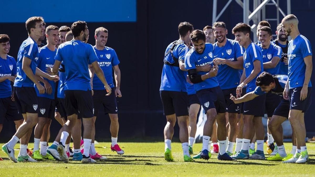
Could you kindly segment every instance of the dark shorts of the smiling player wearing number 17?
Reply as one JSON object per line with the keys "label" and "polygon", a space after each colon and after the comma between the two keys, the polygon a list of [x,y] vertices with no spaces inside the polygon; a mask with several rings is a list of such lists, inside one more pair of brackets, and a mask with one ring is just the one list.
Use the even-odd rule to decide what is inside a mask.
{"label": "dark shorts of the smiling player wearing number 17", "polygon": [[115,96],[115,88],[112,88],[112,93],[106,96],[106,90],[93,90],[93,113],[94,116],[98,116],[100,106],[104,106],[105,113],[107,114],[117,114],[117,100]]}

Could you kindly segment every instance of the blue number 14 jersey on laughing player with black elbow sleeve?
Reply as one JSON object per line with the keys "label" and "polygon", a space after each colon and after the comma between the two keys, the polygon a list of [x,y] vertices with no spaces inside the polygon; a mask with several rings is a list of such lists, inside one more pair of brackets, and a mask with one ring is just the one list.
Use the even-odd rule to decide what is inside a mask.
{"label": "blue number 14 jersey on laughing player with black elbow sleeve", "polygon": [[[196,69],[196,66],[205,66],[210,64],[213,66],[213,45],[211,43],[206,43],[202,54],[195,51],[195,48],[189,50],[185,56],[185,69]],[[208,72],[198,71],[199,75],[207,74]],[[216,77],[210,77],[200,83],[195,83],[194,87],[196,91],[206,88],[214,88],[219,86],[219,82]]]}

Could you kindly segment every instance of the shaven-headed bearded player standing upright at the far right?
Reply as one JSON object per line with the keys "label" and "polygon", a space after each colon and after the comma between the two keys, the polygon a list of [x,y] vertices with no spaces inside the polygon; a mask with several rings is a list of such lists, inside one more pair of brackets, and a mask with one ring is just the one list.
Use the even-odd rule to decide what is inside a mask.
{"label": "shaven-headed bearded player standing upright at the far right", "polygon": [[305,144],[306,129],[304,113],[312,102],[310,81],[312,75],[312,48],[306,37],[300,34],[298,29],[299,20],[295,15],[289,14],[282,19],[282,30],[290,35],[289,42],[289,83],[284,89],[284,98],[289,98],[290,111],[289,121],[295,130],[297,147],[301,148],[294,157],[284,163],[305,163],[308,160],[308,153]]}

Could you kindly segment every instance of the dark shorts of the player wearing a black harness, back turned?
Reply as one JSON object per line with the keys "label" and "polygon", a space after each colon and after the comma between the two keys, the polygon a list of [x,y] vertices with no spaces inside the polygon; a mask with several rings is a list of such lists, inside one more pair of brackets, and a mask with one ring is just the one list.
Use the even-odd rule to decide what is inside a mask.
{"label": "dark shorts of the player wearing a black harness, back turned", "polygon": [[160,91],[164,115],[188,116],[187,92]]}

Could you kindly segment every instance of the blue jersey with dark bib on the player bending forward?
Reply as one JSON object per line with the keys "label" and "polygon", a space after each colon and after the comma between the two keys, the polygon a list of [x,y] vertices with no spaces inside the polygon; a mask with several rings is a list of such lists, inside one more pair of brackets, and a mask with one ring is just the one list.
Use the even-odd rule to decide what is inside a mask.
{"label": "blue jersey with dark bib on the player bending forward", "polygon": [[[288,76],[287,75],[275,75],[275,76],[273,76],[273,78],[275,80],[276,87],[271,89],[270,92],[272,94],[277,94],[277,95],[283,96],[283,91],[285,88],[285,84],[287,83]],[[261,88],[259,86],[257,86],[255,88],[254,93],[256,95],[263,95],[266,92],[262,91]]]}

